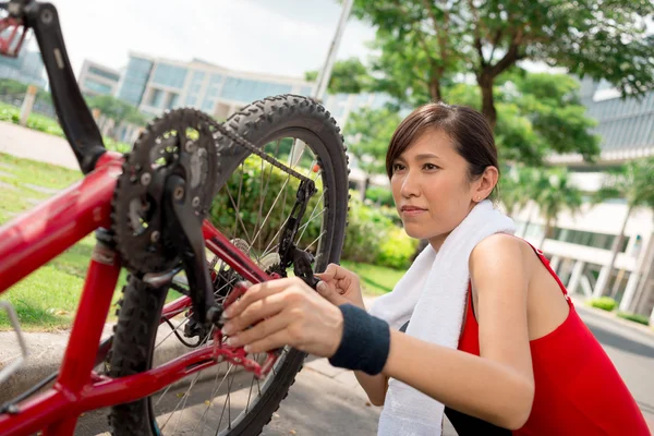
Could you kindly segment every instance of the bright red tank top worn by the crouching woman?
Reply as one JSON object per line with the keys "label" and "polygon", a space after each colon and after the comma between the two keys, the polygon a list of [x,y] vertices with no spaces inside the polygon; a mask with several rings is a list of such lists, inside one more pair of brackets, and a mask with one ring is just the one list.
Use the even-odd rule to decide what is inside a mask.
{"label": "bright red tank top worn by the crouching woman", "polygon": [[[532,249],[556,279],[570,312],[554,331],[530,342],[534,403],[529,420],[513,435],[651,435],[610,359],[577,314],[566,287],[543,253]],[[480,355],[470,286],[468,295],[459,350]]]}

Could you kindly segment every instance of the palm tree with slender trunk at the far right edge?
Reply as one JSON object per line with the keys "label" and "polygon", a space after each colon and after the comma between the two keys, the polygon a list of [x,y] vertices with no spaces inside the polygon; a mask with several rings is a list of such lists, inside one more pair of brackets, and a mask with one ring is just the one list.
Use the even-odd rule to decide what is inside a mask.
{"label": "palm tree with slender trunk at the far right edge", "polygon": [[[614,240],[608,264],[608,277],[618,257],[618,252],[625,240],[625,228],[634,209],[654,205],[654,158],[632,160],[629,164],[610,171],[605,178],[602,187],[593,196],[593,203],[597,204],[607,198],[625,198],[627,201],[627,214],[620,228],[620,233]],[[597,291],[604,294],[608,280]],[[617,294],[618,287],[611,290],[611,296]]]}

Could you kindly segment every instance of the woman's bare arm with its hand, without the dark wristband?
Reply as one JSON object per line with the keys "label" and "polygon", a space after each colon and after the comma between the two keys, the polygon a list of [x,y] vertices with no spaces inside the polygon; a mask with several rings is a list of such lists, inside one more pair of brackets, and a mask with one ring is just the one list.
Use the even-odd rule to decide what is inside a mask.
{"label": "woman's bare arm with its hand, without the dark wristband", "polygon": [[[506,235],[487,238],[471,255],[470,271],[479,295],[481,356],[390,331],[382,374],[463,413],[510,429],[521,427],[534,396],[526,324],[528,275],[522,259],[520,241]],[[230,344],[247,344],[249,352],[288,344],[334,356],[344,331],[341,310],[299,279],[257,284],[226,315],[232,317],[226,325],[228,334],[235,334]],[[374,395],[377,399],[377,390]]]}

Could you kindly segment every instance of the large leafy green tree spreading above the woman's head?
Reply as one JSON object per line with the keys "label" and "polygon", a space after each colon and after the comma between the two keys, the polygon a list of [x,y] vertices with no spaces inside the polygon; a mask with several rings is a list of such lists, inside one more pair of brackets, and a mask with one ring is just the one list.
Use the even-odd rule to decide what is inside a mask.
{"label": "large leafy green tree spreading above the woman's head", "polygon": [[645,25],[652,12],[651,0],[579,0],[574,7],[559,0],[356,0],[353,7],[355,16],[377,26],[374,47],[382,55],[374,68],[384,75],[382,87],[412,101],[440,99],[447,81],[472,72],[492,126],[495,84],[522,60],[607,80],[623,96],[643,95],[654,86],[654,36]]}

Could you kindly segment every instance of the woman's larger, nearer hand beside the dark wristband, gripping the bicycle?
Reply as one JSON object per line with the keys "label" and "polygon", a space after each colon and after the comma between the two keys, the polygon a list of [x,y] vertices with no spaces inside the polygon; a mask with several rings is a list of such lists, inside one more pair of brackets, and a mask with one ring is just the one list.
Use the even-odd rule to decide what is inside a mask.
{"label": "woman's larger, nearer hand beside the dark wristband, gripping the bicycle", "polygon": [[340,308],[296,277],[252,286],[223,316],[229,319],[222,327],[230,337],[227,344],[244,346],[250,353],[291,346],[330,358],[343,334]]}

